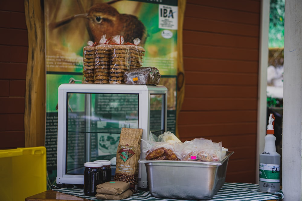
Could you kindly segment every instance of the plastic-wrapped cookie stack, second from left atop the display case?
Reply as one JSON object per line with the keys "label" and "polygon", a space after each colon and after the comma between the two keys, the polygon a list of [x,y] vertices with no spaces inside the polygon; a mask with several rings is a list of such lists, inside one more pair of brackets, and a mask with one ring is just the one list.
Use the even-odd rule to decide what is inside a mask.
{"label": "plastic-wrapped cookie stack, second from left atop the display case", "polygon": [[95,46],[95,80],[94,83],[109,83],[111,45]]}

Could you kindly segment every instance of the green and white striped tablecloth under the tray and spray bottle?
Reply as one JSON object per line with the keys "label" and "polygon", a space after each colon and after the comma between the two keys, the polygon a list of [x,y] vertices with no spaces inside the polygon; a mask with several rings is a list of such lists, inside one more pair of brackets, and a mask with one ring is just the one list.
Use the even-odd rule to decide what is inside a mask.
{"label": "green and white striped tablecloth under the tray and spray bottle", "polygon": [[[53,188],[53,190],[66,193],[69,195],[78,196],[81,198],[99,201],[100,199],[97,199],[94,196],[85,196],[83,189],[56,189]],[[226,200],[238,200],[238,201],[264,201],[264,200],[271,200],[271,199],[283,199],[284,195],[282,193],[282,190],[270,194],[270,193],[262,193],[259,191],[259,185],[258,184],[247,184],[247,183],[225,183],[221,189],[214,195],[212,199],[209,199],[209,201],[226,201]],[[178,199],[162,199],[162,198],[156,198],[153,197],[149,191],[138,191],[138,193],[133,194],[133,196],[128,197],[127,199],[122,200],[128,200],[128,201],[153,201],[153,200],[159,200],[159,201],[176,201]],[[191,199],[182,199],[181,201],[193,201]]]}

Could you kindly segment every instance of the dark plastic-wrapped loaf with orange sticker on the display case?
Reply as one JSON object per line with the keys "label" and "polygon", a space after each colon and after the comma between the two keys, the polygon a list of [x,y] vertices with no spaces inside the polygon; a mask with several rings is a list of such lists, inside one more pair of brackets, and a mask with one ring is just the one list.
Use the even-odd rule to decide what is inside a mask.
{"label": "dark plastic-wrapped loaf with orange sticker on the display case", "polygon": [[153,84],[158,85],[161,75],[155,67],[141,67],[130,69],[124,73],[126,84]]}

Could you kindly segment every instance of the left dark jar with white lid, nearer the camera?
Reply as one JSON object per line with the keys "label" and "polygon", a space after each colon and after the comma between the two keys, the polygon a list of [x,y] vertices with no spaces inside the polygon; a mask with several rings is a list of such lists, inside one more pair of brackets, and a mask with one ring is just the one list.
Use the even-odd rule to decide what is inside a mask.
{"label": "left dark jar with white lid, nearer the camera", "polygon": [[86,162],[84,164],[84,194],[94,196],[98,184],[103,184],[103,164],[101,162]]}

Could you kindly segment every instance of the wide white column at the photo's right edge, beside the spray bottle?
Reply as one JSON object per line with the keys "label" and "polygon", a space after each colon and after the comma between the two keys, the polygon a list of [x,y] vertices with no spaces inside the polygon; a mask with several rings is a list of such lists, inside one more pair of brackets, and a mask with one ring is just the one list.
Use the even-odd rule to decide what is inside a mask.
{"label": "wide white column at the photo's right edge, beside the spray bottle", "polygon": [[302,1],[286,0],[284,17],[282,189],[284,201],[302,200]]}

